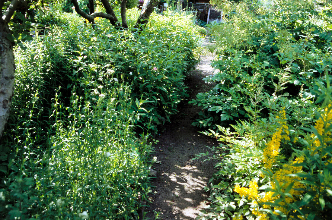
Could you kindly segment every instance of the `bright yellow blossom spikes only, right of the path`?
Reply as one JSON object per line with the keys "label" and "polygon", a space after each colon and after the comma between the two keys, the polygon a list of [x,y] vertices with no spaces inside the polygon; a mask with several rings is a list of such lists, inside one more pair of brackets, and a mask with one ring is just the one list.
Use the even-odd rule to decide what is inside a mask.
{"label": "bright yellow blossom spikes only, right of the path", "polygon": [[[286,208],[287,204],[290,204],[296,200],[299,200],[303,195],[304,191],[300,189],[305,189],[306,186],[301,183],[303,180],[298,176],[289,176],[289,174],[296,174],[302,172],[302,166],[298,164],[303,163],[304,156],[300,156],[299,158],[295,158],[294,160],[289,160],[288,163],[282,164],[282,167],[273,172],[272,168],[277,165],[277,156],[279,155],[279,147],[281,144],[281,140],[290,140],[289,138],[289,130],[286,121],[286,112],[285,109],[280,112],[281,117],[277,117],[280,120],[280,128],[273,134],[271,140],[267,143],[266,148],[263,151],[263,165],[266,169],[271,171],[273,174],[273,178],[275,181],[270,182],[270,186],[272,191],[277,191],[276,183],[278,183],[278,188],[283,193],[289,193],[292,196],[285,196],[282,201],[278,203],[278,207],[274,207],[274,214],[278,215],[276,210],[281,211],[282,213],[289,214]],[[315,129],[317,130],[318,135],[321,138],[317,138],[316,135],[312,134],[311,138],[313,138],[313,144],[308,147],[311,154],[314,155],[316,153],[321,153],[324,151],[323,144],[332,141],[331,131],[325,133],[326,128],[331,126],[332,122],[332,110],[331,105],[329,108],[325,108],[325,114],[316,122]],[[323,138],[323,139],[322,139]],[[294,141],[298,138],[294,138]],[[325,158],[325,165],[331,163],[332,158],[327,159],[328,153],[324,151],[325,155],[322,155],[323,159]],[[293,186],[286,192],[286,189],[293,184]],[[274,202],[277,199],[281,198],[281,195],[273,196],[273,192],[265,192],[265,194],[258,194],[258,185],[257,182],[250,182],[249,188],[240,187],[238,185],[235,186],[234,192],[239,193],[241,196],[247,196],[249,200],[253,201],[254,208],[252,213],[259,217],[260,220],[269,219],[267,213],[263,211],[263,209],[271,209],[270,205],[266,205],[266,202]],[[318,197],[314,199],[314,201],[318,201]],[[262,209],[263,208],[263,209]],[[293,213],[293,212],[292,212]],[[292,216],[294,217],[294,216]],[[299,218],[303,218],[302,216],[297,216]],[[238,218],[238,217],[236,217]]]}

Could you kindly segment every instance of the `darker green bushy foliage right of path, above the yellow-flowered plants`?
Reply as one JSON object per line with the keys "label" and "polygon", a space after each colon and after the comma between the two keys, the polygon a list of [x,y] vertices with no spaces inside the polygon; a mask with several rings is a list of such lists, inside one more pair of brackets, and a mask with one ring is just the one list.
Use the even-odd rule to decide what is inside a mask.
{"label": "darker green bushy foliage right of path, above the yellow-flowered plants", "polygon": [[215,83],[214,88],[192,101],[204,110],[193,125],[234,123],[248,118],[246,108],[252,107],[266,118],[268,110],[276,107],[270,104],[273,97],[279,101],[274,105],[299,94],[315,98],[316,83],[322,84],[332,69],[331,31],[325,27],[330,12],[322,11],[322,19],[316,19],[308,17],[316,11],[299,10],[255,16],[241,3],[231,20],[211,27],[219,58],[212,66],[218,72],[205,79]]}

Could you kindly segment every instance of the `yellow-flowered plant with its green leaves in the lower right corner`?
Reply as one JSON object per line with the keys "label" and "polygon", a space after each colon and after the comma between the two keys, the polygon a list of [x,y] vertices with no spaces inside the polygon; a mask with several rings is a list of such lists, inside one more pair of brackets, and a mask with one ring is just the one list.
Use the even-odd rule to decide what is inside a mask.
{"label": "yellow-flowered plant with its green leaves in the lower right corner", "polygon": [[[261,175],[261,177],[269,176],[270,190],[258,193],[258,185],[255,181],[250,182],[249,188],[235,186],[234,192],[246,196],[253,202],[252,213],[259,219],[269,219],[269,215],[274,218],[281,216],[288,219],[326,219],[327,213],[331,213],[330,201],[328,204],[325,203],[325,200],[327,198],[330,200],[332,196],[331,178],[319,178],[321,174],[331,171],[331,107],[329,105],[325,108],[324,113],[315,123],[313,132],[307,136],[306,149],[298,151],[297,157],[288,162],[278,160],[278,153],[274,153],[274,151],[279,152],[280,143],[289,137],[282,138],[280,130],[273,134],[263,151],[264,175]],[[274,147],[271,148],[271,146]],[[310,164],[310,159],[306,154],[316,157],[320,167]],[[311,169],[306,170],[307,167],[311,167]],[[316,178],[319,181],[311,182]],[[311,200],[310,204],[309,200]],[[273,212],[268,212],[266,209],[273,210]]]}

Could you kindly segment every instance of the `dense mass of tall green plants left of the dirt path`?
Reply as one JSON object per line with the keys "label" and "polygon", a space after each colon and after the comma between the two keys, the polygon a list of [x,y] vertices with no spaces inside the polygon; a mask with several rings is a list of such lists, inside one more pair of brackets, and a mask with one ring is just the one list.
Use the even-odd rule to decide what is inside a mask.
{"label": "dense mass of tall green plants left of the dirt path", "polygon": [[[137,34],[103,19],[93,29],[75,14],[47,13],[36,22],[48,25],[14,50],[0,216],[138,218],[149,192],[149,134],[186,96],[200,36],[184,14],[153,14]],[[137,15],[129,10],[128,23]]]}

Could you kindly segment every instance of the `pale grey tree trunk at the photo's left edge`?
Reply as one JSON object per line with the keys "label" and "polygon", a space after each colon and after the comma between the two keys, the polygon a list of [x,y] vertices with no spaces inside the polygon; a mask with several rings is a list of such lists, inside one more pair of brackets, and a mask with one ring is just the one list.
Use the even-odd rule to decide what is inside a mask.
{"label": "pale grey tree trunk at the photo's left edge", "polygon": [[0,138],[8,120],[14,91],[15,60],[13,45],[7,39],[7,24],[0,19]]}

